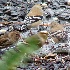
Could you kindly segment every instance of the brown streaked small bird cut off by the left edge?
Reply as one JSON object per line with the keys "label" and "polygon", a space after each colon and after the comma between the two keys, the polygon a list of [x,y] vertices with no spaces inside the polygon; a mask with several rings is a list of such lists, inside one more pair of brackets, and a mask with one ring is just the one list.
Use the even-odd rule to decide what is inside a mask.
{"label": "brown streaked small bird cut off by the left edge", "polygon": [[20,39],[20,32],[11,31],[0,36],[0,49],[7,48],[15,44]]}

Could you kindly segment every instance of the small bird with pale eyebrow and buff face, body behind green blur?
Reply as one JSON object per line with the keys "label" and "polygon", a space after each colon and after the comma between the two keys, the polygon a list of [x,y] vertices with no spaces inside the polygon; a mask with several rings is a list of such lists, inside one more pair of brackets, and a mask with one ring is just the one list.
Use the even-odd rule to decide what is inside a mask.
{"label": "small bird with pale eyebrow and buff face, body behind green blur", "polygon": [[48,32],[41,31],[41,32],[38,32],[37,34],[32,35],[29,38],[25,39],[24,42],[26,42],[27,44],[34,43],[41,47],[47,40],[47,37],[48,37]]}

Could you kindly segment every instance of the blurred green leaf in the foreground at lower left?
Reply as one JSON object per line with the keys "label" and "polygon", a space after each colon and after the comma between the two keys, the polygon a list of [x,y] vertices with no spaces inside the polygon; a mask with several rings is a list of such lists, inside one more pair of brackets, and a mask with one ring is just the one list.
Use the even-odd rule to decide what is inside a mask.
{"label": "blurred green leaf in the foreground at lower left", "polygon": [[32,53],[39,48],[37,45],[39,42],[38,37],[29,37],[26,41],[29,43],[28,45],[22,43],[17,45],[17,49],[19,51],[9,49],[9,51],[5,52],[2,56],[2,60],[0,60],[1,70],[16,70],[16,67],[20,64],[20,61],[25,58],[25,53]]}

